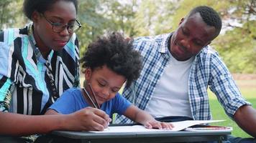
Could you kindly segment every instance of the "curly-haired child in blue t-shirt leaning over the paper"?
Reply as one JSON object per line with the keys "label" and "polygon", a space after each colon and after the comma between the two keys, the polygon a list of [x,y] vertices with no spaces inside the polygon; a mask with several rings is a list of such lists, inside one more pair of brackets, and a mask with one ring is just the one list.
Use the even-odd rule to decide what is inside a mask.
{"label": "curly-haired child in blue t-shirt leaning over the paper", "polygon": [[[124,114],[134,122],[143,124],[146,128],[171,129],[172,124],[156,121],[150,114],[135,107],[127,99],[118,94],[124,82],[129,87],[131,82],[140,76],[142,68],[140,53],[132,49],[132,42],[124,39],[121,34],[112,33],[99,38],[88,46],[85,56],[81,59],[85,74],[85,89],[68,89],[46,114],[71,114],[90,108],[93,102],[99,103],[104,114],[110,117],[114,113]],[[90,86],[91,89],[90,89]],[[90,92],[91,91],[91,92]],[[86,92],[91,93],[86,95]],[[93,99],[92,93],[96,99]],[[91,98],[93,101],[89,99]],[[93,114],[100,119],[87,117],[91,128],[88,130],[103,130],[111,122],[109,116]],[[93,128],[99,127],[99,128]]]}

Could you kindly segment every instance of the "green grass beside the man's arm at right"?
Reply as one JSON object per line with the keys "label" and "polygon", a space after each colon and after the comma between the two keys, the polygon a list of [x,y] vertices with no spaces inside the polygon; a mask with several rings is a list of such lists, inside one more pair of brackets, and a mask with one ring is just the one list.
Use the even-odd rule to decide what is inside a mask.
{"label": "green grass beside the man's arm at right", "polygon": [[[242,95],[248,102],[252,104],[252,107],[256,109],[256,80],[244,80],[237,81],[239,89]],[[214,123],[214,125],[233,127],[232,135],[235,137],[251,137],[249,134],[244,132],[237,124],[225,114],[224,109],[219,104],[215,95],[209,92],[210,109],[213,119],[224,119],[226,121]]]}

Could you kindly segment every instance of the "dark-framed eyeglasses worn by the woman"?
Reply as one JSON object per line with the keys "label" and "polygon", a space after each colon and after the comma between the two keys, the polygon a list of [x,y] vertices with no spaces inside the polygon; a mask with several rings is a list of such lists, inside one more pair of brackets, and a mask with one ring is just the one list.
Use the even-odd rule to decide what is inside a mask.
{"label": "dark-framed eyeglasses worn by the woman", "polygon": [[81,24],[79,23],[79,21],[76,19],[76,21],[72,24],[62,24],[62,23],[59,23],[59,22],[52,22],[50,21],[49,19],[47,19],[45,17],[44,14],[41,14],[45,20],[52,25],[52,31],[54,32],[60,32],[60,31],[63,31],[64,29],[68,29],[68,33],[73,33],[73,32],[76,32],[78,31],[78,29],[81,28]]}

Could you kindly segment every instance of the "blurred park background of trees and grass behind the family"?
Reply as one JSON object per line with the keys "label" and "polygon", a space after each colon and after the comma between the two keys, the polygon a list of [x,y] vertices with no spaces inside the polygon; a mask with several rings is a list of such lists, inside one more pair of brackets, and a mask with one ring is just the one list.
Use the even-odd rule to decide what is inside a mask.
{"label": "blurred park background of trees and grass behind the family", "polygon": [[[227,64],[245,99],[256,108],[256,1],[255,0],[78,0],[77,32],[81,55],[97,36],[119,31],[137,37],[163,34],[177,28],[194,6],[211,6],[222,19],[221,34],[211,43]],[[0,1],[0,29],[23,27],[29,22],[22,13],[23,0]],[[81,78],[83,80],[83,77]],[[233,127],[237,137],[250,137],[224,113],[209,91],[213,119]]]}

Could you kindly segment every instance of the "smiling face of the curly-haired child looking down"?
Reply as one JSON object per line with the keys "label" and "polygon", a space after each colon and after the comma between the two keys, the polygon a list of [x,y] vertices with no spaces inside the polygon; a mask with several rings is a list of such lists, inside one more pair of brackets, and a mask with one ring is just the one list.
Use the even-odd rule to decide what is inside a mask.
{"label": "smiling face of the curly-haired child looking down", "polygon": [[114,98],[126,80],[124,76],[116,74],[107,68],[106,65],[96,68],[93,71],[86,69],[85,77],[86,82],[91,83],[93,92],[100,105]]}

